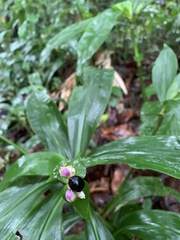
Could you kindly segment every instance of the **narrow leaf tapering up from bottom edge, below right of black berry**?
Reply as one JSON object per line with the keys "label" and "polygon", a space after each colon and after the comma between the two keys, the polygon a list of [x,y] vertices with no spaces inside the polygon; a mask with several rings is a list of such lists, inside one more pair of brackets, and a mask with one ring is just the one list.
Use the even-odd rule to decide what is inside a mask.
{"label": "narrow leaf tapering up from bottom edge, below right of black berry", "polygon": [[91,209],[91,219],[86,222],[86,239],[89,240],[114,240],[110,231],[103,224],[102,219]]}

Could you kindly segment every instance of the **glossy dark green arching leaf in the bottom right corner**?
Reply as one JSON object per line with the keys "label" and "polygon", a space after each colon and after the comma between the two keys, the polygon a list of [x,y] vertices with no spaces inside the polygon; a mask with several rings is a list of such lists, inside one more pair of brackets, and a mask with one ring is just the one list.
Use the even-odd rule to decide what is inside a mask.
{"label": "glossy dark green arching leaf in the bottom right corner", "polygon": [[146,240],[180,239],[180,215],[160,210],[139,210],[125,215],[114,237],[119,233],[138,236]]}

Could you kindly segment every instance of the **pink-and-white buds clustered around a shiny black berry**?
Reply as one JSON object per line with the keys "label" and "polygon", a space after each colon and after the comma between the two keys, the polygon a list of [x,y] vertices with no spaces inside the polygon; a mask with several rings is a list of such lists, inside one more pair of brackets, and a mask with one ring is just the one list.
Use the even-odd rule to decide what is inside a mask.
{"label": "pink-and-white buds clustered around a shiny black berry", "polygon": [[65,193],[68,202],[74,202],[77,197],[84,199],[85,194],[82,191],[84,188],[84,180],[75,176],[76,170],[72,166],[61,167],[59,173],[62,177],[68,178],[68,190]]}

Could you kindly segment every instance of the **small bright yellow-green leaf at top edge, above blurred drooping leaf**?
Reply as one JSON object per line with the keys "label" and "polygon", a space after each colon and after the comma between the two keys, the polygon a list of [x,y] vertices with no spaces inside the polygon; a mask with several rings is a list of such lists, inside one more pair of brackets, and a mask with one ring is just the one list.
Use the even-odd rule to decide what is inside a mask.
{"label": "small bright yellow-green leaf at top edge, above blurred drooping leaf", "polygon": [[133,12],[132,12],[132,2],[120,2],[112,6],[113,9],[120,11],[120,13],[124,14],[129,20],[132,20]]}

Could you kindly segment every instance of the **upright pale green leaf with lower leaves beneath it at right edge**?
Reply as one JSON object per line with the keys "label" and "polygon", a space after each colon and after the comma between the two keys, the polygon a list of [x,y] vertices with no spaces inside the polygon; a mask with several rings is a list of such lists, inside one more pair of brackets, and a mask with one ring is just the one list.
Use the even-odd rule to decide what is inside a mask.
{"label": "upright pale green leaf with lower leaves beneath it at right edge", "polygon": [[[180,135],[180,73],[175,53],[166,44],[152,71],[158,100],[146,102],[141,110],[141,134]],[[148,89],[149,89],[148,88]]]}

